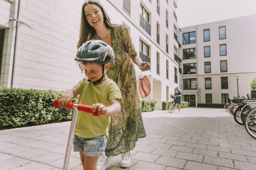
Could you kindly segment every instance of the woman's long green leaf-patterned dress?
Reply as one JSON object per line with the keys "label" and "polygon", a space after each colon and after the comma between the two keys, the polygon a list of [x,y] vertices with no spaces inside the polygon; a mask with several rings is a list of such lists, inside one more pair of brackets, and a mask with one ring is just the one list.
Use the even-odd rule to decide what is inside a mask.
{"label": "woman's long green leaf-patterned dress", "polygon": [[[137,55],[127,28],[114,26],[111,30],[112,48],[115,61],[110,65],[107,75],[117,83],[121,93],[121,112],[111,117],[106,155],[114,156],[135,147],[146,132],[140,112],[135,68],[131,58]],[[97,34],[90,39],[100,39]]]}

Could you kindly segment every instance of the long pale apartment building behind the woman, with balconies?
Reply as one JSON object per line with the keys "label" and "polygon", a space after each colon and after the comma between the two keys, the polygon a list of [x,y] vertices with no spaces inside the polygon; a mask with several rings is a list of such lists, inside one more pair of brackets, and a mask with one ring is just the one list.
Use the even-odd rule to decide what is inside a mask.
{"label": "long pale apartment building behind the woman, with balconies", "polygon": [[[83,2],[1,1],[0,87],[67,90],[83,77],[73,60]],[[162,101],[169,100],[181,76],[177,0],[101,0],[100,3],[113,23],[129,27],[138,55],[150,62],[151,69],[142,75],[147,75],[151,82],[148,98],[157,100],[156,108],[161,109]],[[140,70],[137,66],[135,69],[139,77]]]}

